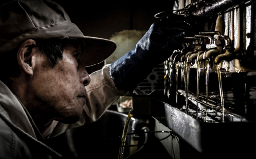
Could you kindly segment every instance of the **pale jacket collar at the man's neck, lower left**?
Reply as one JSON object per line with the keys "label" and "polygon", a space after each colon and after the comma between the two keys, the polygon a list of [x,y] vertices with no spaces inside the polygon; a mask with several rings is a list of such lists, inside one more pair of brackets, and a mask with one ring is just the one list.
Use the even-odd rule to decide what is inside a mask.
{"label": "pale jacket collar at the man's neck, lower left", "polygon": [[35,146],[46,149],[51,155],[61,157],[59,153],[41,142],[43,137],[34,124],[29,112],[2,81],[0,81],[0,117],[16,133],[34,143]]}

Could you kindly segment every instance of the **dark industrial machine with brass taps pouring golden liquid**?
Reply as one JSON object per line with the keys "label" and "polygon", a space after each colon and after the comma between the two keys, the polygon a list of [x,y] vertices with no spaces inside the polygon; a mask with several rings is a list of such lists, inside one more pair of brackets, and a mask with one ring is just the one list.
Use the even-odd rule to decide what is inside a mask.
{"label": "dark industrial machine with brass taps pouring golden liquid", "polygon": [[[133,97],[173,159],[251,159],[256,148],[255,1],[179,0],[161,12],[193,19],[193,37],[164,62],[164,91]],[[162,136],[158,136],[161,138]]]}

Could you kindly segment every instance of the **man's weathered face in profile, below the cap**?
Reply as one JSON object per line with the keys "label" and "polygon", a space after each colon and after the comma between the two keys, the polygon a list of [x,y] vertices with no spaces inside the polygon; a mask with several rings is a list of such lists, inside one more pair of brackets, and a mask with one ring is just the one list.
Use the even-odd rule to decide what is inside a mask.
{"label": "man's weathered face in profile, below the cap", "polygon": [[77,59],[80,52],[79,48],[66,46],[63,58],[54,67],[45,55],[40,55],[32,90],[43,105],[39,110],[49,118],[73,123],[81,117],[87,97],[84,86],[90,83],[90,77]]}

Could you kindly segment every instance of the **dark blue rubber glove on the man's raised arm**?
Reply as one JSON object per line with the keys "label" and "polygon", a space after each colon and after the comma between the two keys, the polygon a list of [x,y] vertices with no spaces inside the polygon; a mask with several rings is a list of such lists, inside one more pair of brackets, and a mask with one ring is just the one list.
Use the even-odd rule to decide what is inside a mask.
{"label": "dark blue rubber glove on the man's raised arm", "polygon": [[115,86],[133,91],[155,66],[181,47],[185,36],[193,36],[194,28],[188,19],[176,14],[153,23],[134,50],[111,64],[110,76]]}

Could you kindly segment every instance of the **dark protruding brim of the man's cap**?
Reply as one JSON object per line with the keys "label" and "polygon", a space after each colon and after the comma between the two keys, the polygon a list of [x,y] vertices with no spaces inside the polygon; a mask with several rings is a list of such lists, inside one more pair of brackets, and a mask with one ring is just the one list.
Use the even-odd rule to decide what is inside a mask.
{"label": "dark protruding brim of the man's cap", "polygon": [[107,59],[117,48],[115,42],[97,37],[77,37],[83,41],[81,55],[79,60],[84,67],[89,67],[103,62]]}

